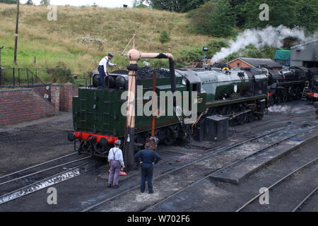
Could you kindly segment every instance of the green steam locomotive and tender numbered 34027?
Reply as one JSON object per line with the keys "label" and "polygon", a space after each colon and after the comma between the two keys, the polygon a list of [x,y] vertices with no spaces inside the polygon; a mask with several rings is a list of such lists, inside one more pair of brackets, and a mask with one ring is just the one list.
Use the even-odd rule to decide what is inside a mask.
{"label": "green steam locomotive and tender numbered 34027", "polygon": [[[158,115],[155,117],[155,136],[159,143],[171,145],[177,140],[187,139],[187,135],[199,141],[220,141],[227,137],[228,124],[242,124],[261,119],[266,112],[267,77],[264,71],[246,73],[241,70],[223,71],[220,69],[175,69],[176,90],[197,93],[197,116],[193,124],[184,124],[184,117],[165,113],[169,101],[160,99],[160,91],[171,91],[169,70],[160,71],[156,78],[155,92],[158,95]],[[128,71],[110,73],[110,87],[98,87],[98,74],[93,77],[93,85],[78,89],[78,97],[73,97],[73,128],[69,141],[79,141],[78,152],[107,157],[114,141],[124,141],[126,117],[122,114],[122,94],[128,88]],[[137,71],[138,74],[138,71]],[[142,93],[153,90],[152,78],[136,76],[136,85],[142,85]],[[140,98],[136,96],[136,98]],[[144,107],[149,98],[136,100]],[[182,96],[184,102],[192,101]],[[162,105],[164,103],[164,105]],[[189,104],[191,106],[191,104]],[[151,136],[151,116],[135,114],[136,144],[142,144]],[[222,134],[223,135],[222,135]],[[220,135],[221,134],[221,135]],[[124,143],[124,142],[122,142]]]}

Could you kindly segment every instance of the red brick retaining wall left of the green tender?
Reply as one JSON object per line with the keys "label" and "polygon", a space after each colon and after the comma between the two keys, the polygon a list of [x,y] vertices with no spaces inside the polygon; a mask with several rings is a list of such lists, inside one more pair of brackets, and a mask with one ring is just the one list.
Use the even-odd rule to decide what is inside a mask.
{"label": "red brick retaining wall left of the green tender", "polygon": [[[48,95],[47,100],[45,95]],[[78,87],[71,83],[0,90],[0,126],[51,117],[59,111],[72,112],[73,96],[77,95]]]}

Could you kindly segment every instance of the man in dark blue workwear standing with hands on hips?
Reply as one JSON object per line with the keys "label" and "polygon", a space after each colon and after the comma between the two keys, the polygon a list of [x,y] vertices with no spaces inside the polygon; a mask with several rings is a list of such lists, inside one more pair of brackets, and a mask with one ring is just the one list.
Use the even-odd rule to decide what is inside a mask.
{"label": "man in dark blue workwear standing with hands on hips", "polygon": [[[145,191],[146,180],[148,182],[148,193],[153,193],[153,165],[157,164],[160,160],[160,156],[153,150],[150,150],[151,144],[146,143],[144,150],[136,153],[135,160],[141,164],[141,193]],[[140,160],[139,160],[140,159]]]}

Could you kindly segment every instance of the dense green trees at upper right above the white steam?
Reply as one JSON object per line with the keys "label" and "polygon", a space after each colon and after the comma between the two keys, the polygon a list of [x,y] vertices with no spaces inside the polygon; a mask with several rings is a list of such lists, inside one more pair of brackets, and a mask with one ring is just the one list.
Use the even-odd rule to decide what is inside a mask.
{"label": "dense green trees at upper right above the white steam", "polygon": [[[261,4],[269,6],[269,20],[260,19],[264,11],[259,9]],[[192,31],[216,37],[232,35],[232,28],[265,28],[268,25],[305,27],[314,32],[318,28],[317,15],[317,0],[210,0],[187,13]]]}

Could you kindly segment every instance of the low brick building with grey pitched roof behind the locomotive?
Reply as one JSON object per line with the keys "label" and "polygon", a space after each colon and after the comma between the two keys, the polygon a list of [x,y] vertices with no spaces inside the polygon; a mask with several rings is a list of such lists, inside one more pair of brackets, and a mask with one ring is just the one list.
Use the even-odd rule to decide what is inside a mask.
{"label": "low brick building with grey pitched roof behind the locomotive", "polygon": [[228,62],[228,65],[231,67],[239,68],[266,68],[273,71],[283,69],[283,65],[278,64],[277,62],[271,59],[261,59],[261,58],[247,58],[239,57]]}

